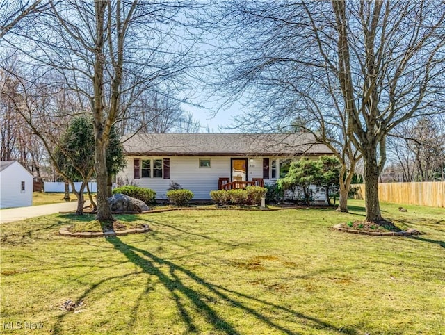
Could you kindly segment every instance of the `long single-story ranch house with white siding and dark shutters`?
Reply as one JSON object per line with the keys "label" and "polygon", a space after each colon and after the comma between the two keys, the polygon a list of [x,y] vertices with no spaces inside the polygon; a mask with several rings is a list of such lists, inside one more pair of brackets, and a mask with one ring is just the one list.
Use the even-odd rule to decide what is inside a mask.
{"label": "long single-story ranch house with white siding and dark shutters", "polygon": [[150,133],[124,138],[124,183],[156,191],[166,199],[172,181],[191,190],[195,200],[210,191],[263,186],[280,178],[280,164],[300,156],[332,154],[310,134]]}

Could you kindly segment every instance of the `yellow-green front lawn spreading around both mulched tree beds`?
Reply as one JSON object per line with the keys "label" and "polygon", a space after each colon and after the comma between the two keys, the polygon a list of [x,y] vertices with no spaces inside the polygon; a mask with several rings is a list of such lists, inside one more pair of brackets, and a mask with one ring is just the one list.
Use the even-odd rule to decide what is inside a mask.
{"label": "yellow-green front lawn spreading around both mulched tree beds", "polygon": [[[29,334],[444,334],[444,209],[401,213],[382,204],[385,218],[427,233],[383,238],[330,229],[364,218],[363,202],[350,204],[350,214],[124,215],[119,220],[143,219],[152,231],[106,239],[58,236],[72,216],[1,224],[0,327],[43,322]],[[69,299],[83,306],[60,310]]]}

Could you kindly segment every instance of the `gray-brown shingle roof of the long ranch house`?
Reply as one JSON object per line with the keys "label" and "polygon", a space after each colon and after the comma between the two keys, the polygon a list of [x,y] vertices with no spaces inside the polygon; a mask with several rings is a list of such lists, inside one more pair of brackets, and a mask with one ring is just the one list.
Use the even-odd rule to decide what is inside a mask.
{"label": "gray-brown shingle roof of the long ranch house", "polygon": [[123,138],[133,156],[303,156],[332,154],[309,133],[143,133]]}

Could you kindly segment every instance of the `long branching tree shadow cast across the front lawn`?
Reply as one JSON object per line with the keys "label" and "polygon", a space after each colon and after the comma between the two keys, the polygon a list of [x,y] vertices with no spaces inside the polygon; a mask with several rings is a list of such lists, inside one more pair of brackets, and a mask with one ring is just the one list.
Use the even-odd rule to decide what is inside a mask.
{"label": "long branching tree shadow cast across the front lawn", "polygon": [[[186,322],[187,332],[199,332],[197,325],[193,320],[193,316],[188,313],[186,306],[183,302],[181,302],[181,297],[186,297],[189,302],[193,305],[193,308],[199,313],[200,316],[203,316],[209,324],[213,326],[214,329],[218,332],[223,332],[225,334],[240,334],[238,330],[232,325],[228,320],[224,318],[223,315],[218,313],[216,309],[214,309],[209,302],[214,302],[215,299],[212,295],[216,295],[220,299],[224,300],[228,304],[232,306],[232,308],[240,309],[243,313],[248,313],[248,315],[257,318],[260,322],[276,329],[284,334],[298,334],[291,329],[277,324],[273,319],[268,318],[260,311],[261,309],[275,309],[280,310],[281,312],[285,312],[289,314],[290,318],[300,318],[303,319],[302,322],[310,322],[313,324],[315,329],[328,329],[334,330],[336,332],[345,332],[346,329],[339,329],[329,322],[325,322],[323,320],[319,320],[318,318],[314,318],[311,316],[306,316],[303,313],[299,313],[297,311],[293,311],[291,309],[287,309],[285,307],[280,307],[276,304],[271,304],[266,302],[265,300],[260,300],[257,297],[250,297],[249,295],[245,295],[243,293],[237,293],[235,291],[230,291],[226,288],[222,288],[220,286],[213,285],[206,281],[205,279],[198,277],[191,270],[187,270],[171,261],[167,261],[165,259],[161,259],[158,256],[148,252],[147,250],[140,249],[138,247],[134,247],[133,245],[128,245],[123,243],[122,240],[118,237],[107,238],[107,241],[114,245],[115,249],[119,250],[127,257],[129,261],[137,265],[139,268],[143,270],[143,272],[148,275],[155,276],[159,281],[168,289],[171,294],[172,299],[175,301],[177,306],[177,310],[181,315],[181,318]],[[161,270],[161,268],[168,267],[168,275]],[[184,284],[183,279],[181,277],[186,277],[186,279],[191,279],[195,284],[198,284],[202,290],[197,290],[195,288],[191,288]],[[148,283],[147,288],[145,289],[145,293],[147,294],[151,291],[151,285]],[[204,293],[207,291],[208,293]],[[229,293],[232,296],[229,296]],[[256,307],[255,309],[249,307],[247,304],[242,302],[239,298],[243,297],[245,300],[250,300],[250,302],[255,303],[255,305],[261,304],[261,307]],[[136,303],[136,306],[133,308],[133,314],[137,313],[138,305],[140,302]],[[133,320],[133,322],[136,319]],[[353,329],[347,329],[348,334],[357,334]]]}

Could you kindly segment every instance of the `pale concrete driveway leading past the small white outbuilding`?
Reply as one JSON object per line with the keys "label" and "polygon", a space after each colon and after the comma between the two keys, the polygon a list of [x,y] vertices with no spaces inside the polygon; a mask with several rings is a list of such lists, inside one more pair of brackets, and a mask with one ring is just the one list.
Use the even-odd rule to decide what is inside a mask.
{"label": "pale concrete driveway leading past the small white outbuilding", "polygon": [[[87,203],[85,206],[86,205]],[[16,209],[0,209],[0,224],[35,218],[36,216],[49,215],[58,212],[75,211],[76,208],[77,202],[63,202],[60,204],[18,207]]]}

